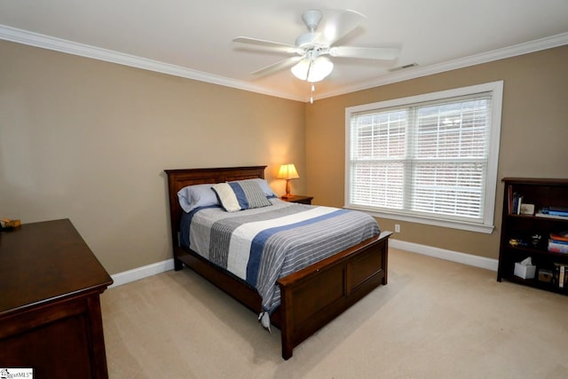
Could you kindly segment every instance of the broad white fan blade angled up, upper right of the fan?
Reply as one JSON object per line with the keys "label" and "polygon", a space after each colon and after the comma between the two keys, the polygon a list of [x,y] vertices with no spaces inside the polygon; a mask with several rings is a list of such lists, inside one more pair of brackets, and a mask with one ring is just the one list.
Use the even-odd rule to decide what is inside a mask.
{"label": "broad white fan blade angled up, upper right of the fan", "polygon": [[319,23],[318,31],[321,36],[318,42],[331,45],[350,34],[365,19],[367,16],[364,14],[351,10],[326,11],[323,20]]}

